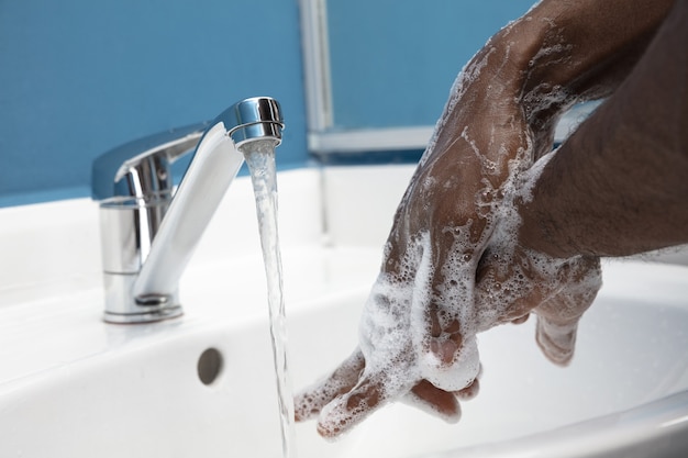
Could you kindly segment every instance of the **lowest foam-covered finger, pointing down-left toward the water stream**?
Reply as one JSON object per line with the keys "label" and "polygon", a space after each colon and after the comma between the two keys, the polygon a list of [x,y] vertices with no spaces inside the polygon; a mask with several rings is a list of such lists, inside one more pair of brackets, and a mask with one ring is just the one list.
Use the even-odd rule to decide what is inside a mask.
{"label": "lowest foam-covered finger, pointing down-left toward the water stream", "polygon": [[325,438],[335,438],[412,388],[412,384],[397,383],[386,369],[389,368],[364,372],[363,379],[351,391],[323,406],[318,418],[318,433]]}

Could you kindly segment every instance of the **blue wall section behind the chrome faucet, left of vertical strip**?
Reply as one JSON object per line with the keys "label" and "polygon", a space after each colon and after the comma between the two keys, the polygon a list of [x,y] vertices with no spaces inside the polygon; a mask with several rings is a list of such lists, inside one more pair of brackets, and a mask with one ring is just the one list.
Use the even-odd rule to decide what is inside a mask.
{"label": "blue wall section behind the chrome faucet, left of vertical strip", "polygon": [[0,0],[0,206],[89,194],[99,154],[278,99],[306,160],[297,0]]}

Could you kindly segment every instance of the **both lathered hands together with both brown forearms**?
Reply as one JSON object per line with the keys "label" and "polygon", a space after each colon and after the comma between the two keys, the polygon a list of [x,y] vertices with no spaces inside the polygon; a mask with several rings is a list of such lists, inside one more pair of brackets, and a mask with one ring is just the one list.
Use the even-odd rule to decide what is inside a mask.
{"label": "both lathered hands together with both brown forearms", "polygon": [[[406,398],[456,421],[478,389],[477,332],[534,313],[566,365],[599,256],[688,242],[686,3],[545,0],[488,42],[397,211],[362,345],[297,396],[297,420],[334,437]],[[601,97],[537,161],[558,115]]]}

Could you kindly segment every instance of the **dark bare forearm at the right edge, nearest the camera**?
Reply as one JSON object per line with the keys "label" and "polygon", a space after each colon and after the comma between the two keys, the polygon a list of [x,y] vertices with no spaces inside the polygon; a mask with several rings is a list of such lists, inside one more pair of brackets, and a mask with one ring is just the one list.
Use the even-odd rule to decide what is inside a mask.
{"label": "dark bare forearm at the right edge, nearest the camera", "polygon": [[559,148],[521,209],[522,243],[555,257],[688,243],[686,2],[614,94]]}

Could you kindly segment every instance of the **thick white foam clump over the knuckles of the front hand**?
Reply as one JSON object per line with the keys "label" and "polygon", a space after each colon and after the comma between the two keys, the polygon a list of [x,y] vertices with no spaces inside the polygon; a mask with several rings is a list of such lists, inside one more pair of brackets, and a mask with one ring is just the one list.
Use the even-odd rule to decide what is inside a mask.
{"label": "thick white foam clump over the knuckles of the front hand", "polygon": [[[382,273],[373,288],[366,302],[360,322],[359,346],[366,360],[366,373],[384,371],[387,375],[388,392],[400,396],[400,388],[412,387],[420,379],[426,379],[436,387],[456,391],[470,384],[475,379],[479,358],[475,333],[465,332],[463,346],[451,364],[442,361],[431,350],[431,339],[441,343],[447,336],[431,337],[431,301],[436,301],[431,281],[434,278],[431,264],[432,249],[426,233],[412,242],[395,275]],[[408,281],[411,278],[412,281]],[[463,290],[468,281],[462,281]],[[454,289],[462,287],[453,287]],[[455,298],[464,294],[455,293]],[[454,315],[462,308],[452,308],[442,319],[446,323],[457,320]],[[390,362],[392,362],[390,365]]]}

